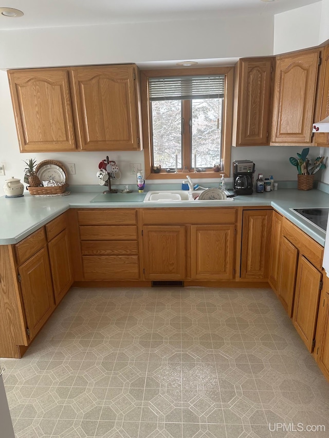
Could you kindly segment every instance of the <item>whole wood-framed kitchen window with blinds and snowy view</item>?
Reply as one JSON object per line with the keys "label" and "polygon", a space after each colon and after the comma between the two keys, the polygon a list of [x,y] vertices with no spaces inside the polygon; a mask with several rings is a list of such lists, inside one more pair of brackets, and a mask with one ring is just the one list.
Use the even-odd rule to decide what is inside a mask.
{"label": "whole wood-framed kitchen window with blinds and snowy view", "polygon": [[194,168],[211,178],[221,161],[229,176],[232,77],[231,67],[141,72],[148,179],[181,178]]}

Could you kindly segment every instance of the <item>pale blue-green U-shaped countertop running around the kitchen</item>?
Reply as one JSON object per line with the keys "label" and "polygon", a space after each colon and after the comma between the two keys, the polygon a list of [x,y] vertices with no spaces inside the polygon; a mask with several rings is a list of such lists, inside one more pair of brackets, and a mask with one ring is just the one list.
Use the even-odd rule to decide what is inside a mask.
{"label": "pale blue-green U-shaped countertop running around the kitchen", "polygon": [[[0,197],[0,244],[8,245],[20,242],[29,234],[38,230],[50,220],[69,208],[163,208],[163,207],[248,207],[271,206],[295,223],[306,234],[320,243],[325,241],[325,232],[298,216],[290,208],[317,208],[329,206],[329,194],[320,190],[301,191],[295,188],[279,189],[269,193],[236,196],[227,201],[188,201],[143,202],[145,193],[136,198],[131,194],[125,201],[124,195],[113,195],[113,201],[90,202],[99,192],[71,192],[68,196],[35,197],[24,193],[21,198]],[[111,196],[112,197],[112,196]],[[120,199],[120,200],[119,200]]]}

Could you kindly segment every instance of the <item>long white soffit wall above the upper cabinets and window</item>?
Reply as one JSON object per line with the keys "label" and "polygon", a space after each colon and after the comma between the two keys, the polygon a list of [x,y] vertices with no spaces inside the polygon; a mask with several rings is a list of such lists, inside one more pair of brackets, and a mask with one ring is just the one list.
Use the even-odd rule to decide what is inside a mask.
{"label": "long white soffit wall above the upper cabinets and window", "polygon": [[269,15],[7,30],[0,31],[0,68],[241,58],[272,48]]}

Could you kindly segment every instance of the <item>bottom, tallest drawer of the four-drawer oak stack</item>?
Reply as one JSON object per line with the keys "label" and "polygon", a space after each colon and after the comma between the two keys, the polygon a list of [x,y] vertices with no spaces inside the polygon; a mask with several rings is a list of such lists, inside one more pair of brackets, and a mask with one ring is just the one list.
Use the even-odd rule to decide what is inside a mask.
{"label": "bottom, tallest drawer of the four-drawer oak stack", "polygon": [[83,256],[85,280],[138,280],[138,256]]}

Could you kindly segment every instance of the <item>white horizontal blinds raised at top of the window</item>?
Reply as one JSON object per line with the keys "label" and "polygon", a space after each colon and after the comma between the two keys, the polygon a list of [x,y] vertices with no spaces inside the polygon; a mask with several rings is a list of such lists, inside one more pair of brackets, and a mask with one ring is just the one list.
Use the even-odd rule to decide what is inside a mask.
{"label": "white horizontal blinds raised at top of the window", "polygon": [[224,98],[225,75],[149,78],[150,101]]}

